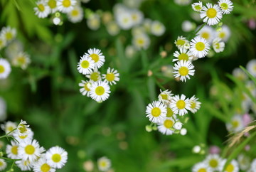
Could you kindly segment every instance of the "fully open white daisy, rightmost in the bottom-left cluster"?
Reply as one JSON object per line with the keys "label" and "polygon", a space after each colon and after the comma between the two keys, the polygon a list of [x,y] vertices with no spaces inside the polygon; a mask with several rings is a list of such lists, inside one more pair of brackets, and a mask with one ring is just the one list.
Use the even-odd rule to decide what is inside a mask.
{"label": "fully open white daisy, rightmost in the bottom-left cluster", "polygon": [[68,153],[59,146],[46,151],[46,162],[53,168],[62,168],[68,160]]}

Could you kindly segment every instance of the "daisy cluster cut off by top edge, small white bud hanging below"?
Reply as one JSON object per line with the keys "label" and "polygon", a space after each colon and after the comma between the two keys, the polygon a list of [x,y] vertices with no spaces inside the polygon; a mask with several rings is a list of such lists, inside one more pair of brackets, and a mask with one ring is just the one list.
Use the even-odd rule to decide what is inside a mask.
{"label": "daisy cluster cut off by top edge, small white bud hanging below", "polygon": [[[82,2],[87,3],[88,1]],[[55,25],[62,23],[60,14],[66,14],[72,23],[78,23],[84,17],[81,3],[78,0],[39,0],[36,2],[34,11],[38,18],[46,18],[53,14]]]}

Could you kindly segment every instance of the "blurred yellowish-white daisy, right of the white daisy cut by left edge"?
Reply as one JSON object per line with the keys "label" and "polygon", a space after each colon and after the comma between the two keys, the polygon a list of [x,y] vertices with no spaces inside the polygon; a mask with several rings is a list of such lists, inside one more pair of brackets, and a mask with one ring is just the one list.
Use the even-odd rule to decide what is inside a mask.
{"label": "blurred yellowish-white daisy, right of the white daisy cut by left edge", "polygon": [[12,64],[16,67],[21,67],[25,70],[28,67],[28,64],[31,63],[30,55],[25,52],[20,52],[14,56]]}

